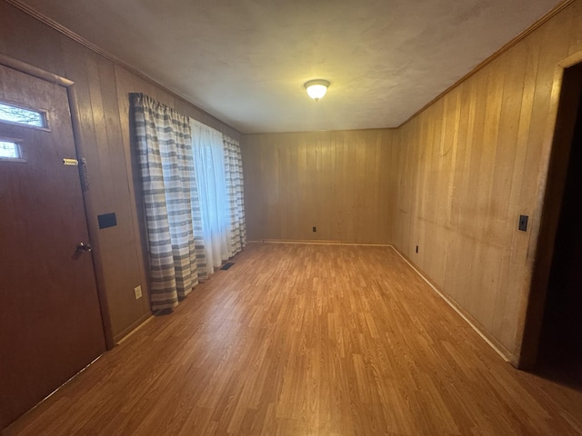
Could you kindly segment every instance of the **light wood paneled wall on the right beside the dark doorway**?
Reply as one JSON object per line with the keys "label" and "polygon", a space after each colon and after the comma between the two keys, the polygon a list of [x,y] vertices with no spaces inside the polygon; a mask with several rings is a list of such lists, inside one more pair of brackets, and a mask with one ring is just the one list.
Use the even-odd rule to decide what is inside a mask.
{"label": "light wood paneled wall on the right beside the dark doorway", "polygon": [[[393,243],[517,363],[556,117],[582,2],[398,129]],[[517,230],[529,215],[527,233]],[[418,246],[418,253],[416,253]]]}

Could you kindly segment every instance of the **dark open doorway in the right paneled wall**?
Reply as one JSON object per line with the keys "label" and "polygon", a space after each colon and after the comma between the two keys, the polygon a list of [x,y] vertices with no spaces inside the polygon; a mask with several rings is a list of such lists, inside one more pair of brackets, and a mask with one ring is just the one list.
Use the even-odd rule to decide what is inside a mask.
{"label": "dark open doorway in the right paneled wall", "polygon": [[582,390],[582,64],[565,70],[562,88],[560,141],[550,165],[550,177],[558,186],[551,202],[556,208],[555,237],[536,372]]}

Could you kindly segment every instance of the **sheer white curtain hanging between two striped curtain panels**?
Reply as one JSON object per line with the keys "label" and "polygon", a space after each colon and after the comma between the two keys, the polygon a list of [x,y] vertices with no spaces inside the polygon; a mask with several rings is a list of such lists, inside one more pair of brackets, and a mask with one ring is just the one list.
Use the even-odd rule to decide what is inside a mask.
{"label": "sheer white curtain hanging between two striped curtain panels", "polygon": [[211,274],[233,255],[226,192],[225,152],[220,132],[190,119],[192,153],[202,214],[206,272]]}

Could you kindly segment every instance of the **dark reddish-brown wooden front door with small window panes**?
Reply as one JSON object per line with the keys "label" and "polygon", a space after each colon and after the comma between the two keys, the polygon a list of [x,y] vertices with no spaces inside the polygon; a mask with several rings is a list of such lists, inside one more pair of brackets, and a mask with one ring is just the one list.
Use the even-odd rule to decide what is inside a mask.
{"label": "dark reddish-brown wooden front door with small window panes", "polygon": [[77,249],[89,236],[66,89],[0,65],[0,104],[0,119],[45,120],[0,121],[1,429],[104,352],[105,333],[92,253]]}

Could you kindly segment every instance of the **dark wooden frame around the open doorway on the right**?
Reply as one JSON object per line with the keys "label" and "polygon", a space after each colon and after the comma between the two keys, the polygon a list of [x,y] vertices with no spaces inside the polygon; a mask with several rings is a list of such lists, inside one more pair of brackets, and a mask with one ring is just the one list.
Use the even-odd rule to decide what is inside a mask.
{"label": "dark wooden frame around the open doorway on the right", "polygon": [[[573,84],[564,80],[567,68],[582,63],[582,51],[568,56],[556,65],[552,85],[551,107],[548,119],[552,123],[548,128],[548,142],[551,143],[547,173],[545,175],[545,192],[541,203],[540,223],[536,246],[536,257],[530,279],[527,310],[523,320],[523,336],[521,349],[517,360],[517,368],[533,369],[537,362],[537,351],[546,307],[547,286],[554,258],[554,243],[556,242],[557,226],[560,218],[562,197],[566,188],[567,168],[576,117],[568,111],[582,100],[579,98],[582,84]],[[577,90],[576,98],[567,99],[563,96]],[[569,115],[569,116],[568,116]],[[536,235],[532,234],[532,237]]]}

